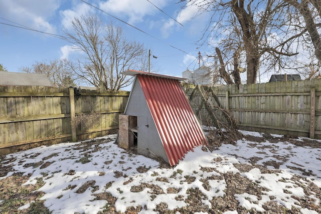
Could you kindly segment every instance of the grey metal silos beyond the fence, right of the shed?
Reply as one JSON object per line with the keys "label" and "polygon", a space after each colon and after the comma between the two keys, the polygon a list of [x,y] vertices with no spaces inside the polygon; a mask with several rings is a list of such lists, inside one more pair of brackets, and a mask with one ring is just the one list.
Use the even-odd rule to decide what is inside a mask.
{"label": "grey metal silos beyond the fence, right of the shed", "polygon": [[183,78],[188,79],[189,83],[195,85],[214,85],[214,77],[212,69],[206,66],[201,66],[195,71],[190,71],[187,69],[182,72]]}

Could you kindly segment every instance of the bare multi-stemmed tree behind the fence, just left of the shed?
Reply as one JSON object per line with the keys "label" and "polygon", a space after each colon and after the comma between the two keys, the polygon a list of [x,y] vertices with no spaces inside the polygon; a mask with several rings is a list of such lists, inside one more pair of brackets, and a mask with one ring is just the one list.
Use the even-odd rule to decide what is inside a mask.
{"label": "bare multi-stemmed tree behind the fence, just left of the shed", "polygon": [[139,63],[146,56],[143,45],[128,41],[122,28],[104,25],[97,16],[75,18],[72,30],[65,30],[65,34],[83,53],[70,64],[71,69],[97,88],[118,91],[130,84],[122,72],[141,70]]}

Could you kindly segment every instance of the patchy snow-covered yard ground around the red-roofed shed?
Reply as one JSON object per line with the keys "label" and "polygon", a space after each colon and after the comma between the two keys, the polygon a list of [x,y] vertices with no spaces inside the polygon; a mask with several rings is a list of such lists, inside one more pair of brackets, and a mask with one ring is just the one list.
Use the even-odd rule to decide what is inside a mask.
{"label": "patchy snow-covered yard ground around the red-roofed shed", "polygon": [[116,135],[41,146],[3,158],[0,188],[15,173],[28,176],[23,186],[42,180],[52,213],[319,213],[321,142],[241,132],[236,145],[197,147],[174,167],[126,152]]}

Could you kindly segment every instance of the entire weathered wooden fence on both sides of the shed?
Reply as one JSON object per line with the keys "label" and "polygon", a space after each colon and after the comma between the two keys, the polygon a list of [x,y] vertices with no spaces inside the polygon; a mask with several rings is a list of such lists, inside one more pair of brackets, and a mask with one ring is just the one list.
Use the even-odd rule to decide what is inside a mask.
{"label": "entire weathered wooden fence on both sides of the shed", "polygon": [[[193,87],[184,86],[191,95]],[[205,87],[206,88],[206,87]],[[212,87],[216,98],[204,105],[195,94],[191,106],[207,125],[206,106],[234,115],[240,129],[321,138],[321,79]],[[118,128],[129,92],[100,93],[73,88],[0,87],[0,152],[31,144],[44,145],[103,136]],[[203,102],[201,109],[198,106]],[[217,112],[216,112],[217,113]],[[90,120],[82,119],[94,114]],[[224,120],[223,116],[216,117]],[[78,123],[71,123],[71,121]]]}

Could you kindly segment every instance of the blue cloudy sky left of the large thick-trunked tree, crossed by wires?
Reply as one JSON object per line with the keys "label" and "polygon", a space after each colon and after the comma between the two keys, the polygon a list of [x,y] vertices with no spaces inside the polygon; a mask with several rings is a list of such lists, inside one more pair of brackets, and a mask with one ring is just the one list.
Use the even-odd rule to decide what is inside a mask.
{"label": "blue cloudy sky left of the large thick-trunked tree, crossed by wires", "polygon": [[[80,0],[0,0],[0,63],[10,72],[21,72],[22,67],[31,67],[36,61],[68,58],[72,55],[71,44],[43,33],[29,31],[15,26],[26,26],[38,31],[64,36],[63,29],[70,28],[74,17],[96,14],[109,24],[123,28],[127,38],[143,43],[151,50],[153,68],[159,74],[181,76],[187,68],[198,68],[198,52],[209,53],[206,47],[196,42],[201,38],[208,15],[193,19],[197,9],[186,3],[171,0],[105,0],[86,2],[95,5],[106,13],[127,22],[150,34],[153,38],[132,27],[88,6]],[[183,26],[158,10],[151,3],[176,19]],[[171,46],[174,46],[179,51]]]}

